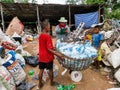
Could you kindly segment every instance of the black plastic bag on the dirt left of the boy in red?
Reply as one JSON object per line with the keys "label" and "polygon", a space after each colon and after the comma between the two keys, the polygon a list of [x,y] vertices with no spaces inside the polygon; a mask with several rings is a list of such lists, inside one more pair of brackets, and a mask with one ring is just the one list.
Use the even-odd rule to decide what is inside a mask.
{"label": "black plastic bag on the dirt left of the boy in red", "polygon": [[39,63],[37,56],[25,56],[25,62],[33,67],[36,67]]}

